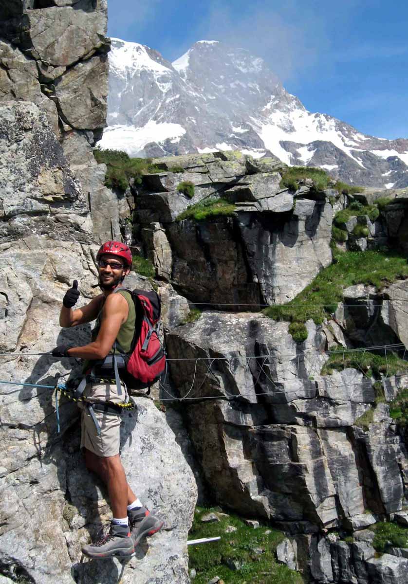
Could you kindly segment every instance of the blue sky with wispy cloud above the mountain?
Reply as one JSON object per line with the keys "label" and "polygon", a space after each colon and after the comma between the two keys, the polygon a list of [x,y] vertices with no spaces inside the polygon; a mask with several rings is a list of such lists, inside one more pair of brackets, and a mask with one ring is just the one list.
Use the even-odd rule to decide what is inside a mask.
{"label": "blue sky with wispy cloud above the mountain", "polygon": [[[333,4],[333,5],[331,5]],[[197,40],[250,49],[312,112],[408,138],[406,0],[108,0],[110,36],[170,61]]]}

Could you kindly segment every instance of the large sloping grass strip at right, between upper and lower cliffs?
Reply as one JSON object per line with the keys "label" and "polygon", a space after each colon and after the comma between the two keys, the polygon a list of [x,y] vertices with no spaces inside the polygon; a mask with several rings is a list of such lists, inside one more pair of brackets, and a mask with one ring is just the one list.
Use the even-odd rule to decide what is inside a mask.
{"label": "large sloping grass strip at right, between upper and lower cliffs", "polygon": [[343,290],[354,284],[372,284],[377,288],[408,277],[406,257],[397,252],[334,252],[335,263],[323,268],[296,298],[274,305],[263,312],[276,321],[316,324],[336,311],[343,300]]}

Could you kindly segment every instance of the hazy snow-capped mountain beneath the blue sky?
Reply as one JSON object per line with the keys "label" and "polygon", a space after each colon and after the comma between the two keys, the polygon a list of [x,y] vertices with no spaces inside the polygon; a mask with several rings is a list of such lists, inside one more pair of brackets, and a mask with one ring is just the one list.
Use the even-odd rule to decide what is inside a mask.
{"label": "hazy snow-capped mountain beneath the blue sky", "polygon": [[241,150],[289,165],[320,166],[334,178],[408,186],[408,140],[361,134],[310,113],[261,58],[218,41],[198,41],[177,61],[112,39],[108,128],[102,148],[133,156]]}

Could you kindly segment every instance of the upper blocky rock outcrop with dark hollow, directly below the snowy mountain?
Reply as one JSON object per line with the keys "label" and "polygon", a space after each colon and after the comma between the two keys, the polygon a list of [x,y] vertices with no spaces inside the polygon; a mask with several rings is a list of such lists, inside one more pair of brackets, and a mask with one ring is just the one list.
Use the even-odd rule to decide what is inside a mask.
{"label": "upper blocky rock outcrop with dark hollow, directly below the snowy mountain", "polygon": [[[284,303],[331,262],[331,204],[308,186],[296,193],[279,186],[277,159],[260,165],[240,152],[216,152],[154,162],[167,172],[144,176],[135,196],[144,249],[157,274],[192,302],[222,310]],[[195,185],[192,199],[177,190],[185,180]],[[231,201],[235,212],[177,220],[209,197]]]}

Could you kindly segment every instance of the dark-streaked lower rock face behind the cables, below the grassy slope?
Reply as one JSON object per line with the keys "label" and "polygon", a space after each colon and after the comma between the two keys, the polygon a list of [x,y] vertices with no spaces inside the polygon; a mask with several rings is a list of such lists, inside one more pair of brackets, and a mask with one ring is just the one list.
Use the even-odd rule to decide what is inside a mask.
{"label": "dark-streaked lower rock face behind the cables, below the grassy slope", "polygon": [[[354,369],[323,376],[326,335],[311,321],[307,330],[299,344],[286,323],[205,312],[168,333],[171,378],[206,479],[222,505],[297,534],[296,553],[285,544],[279,558],[311,582],[402,583],[403,554],[379,562],[371,547],[357,559],[360,544],[314,535],[362,530],[399,512],[408,459],[372,383]],[[396,395],[389,386],[387,401]],[[373,408],[373,422],[361,426]]]}

